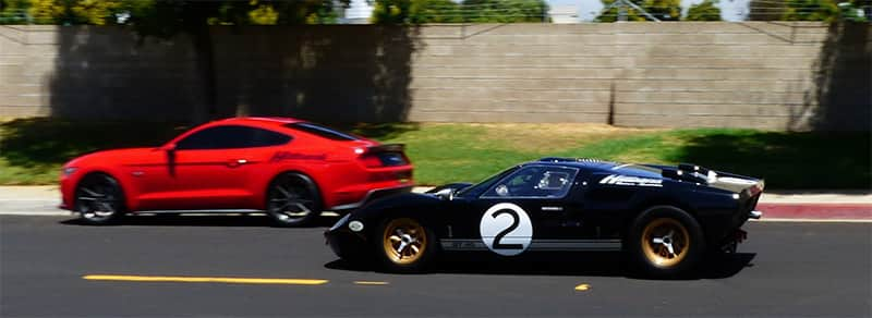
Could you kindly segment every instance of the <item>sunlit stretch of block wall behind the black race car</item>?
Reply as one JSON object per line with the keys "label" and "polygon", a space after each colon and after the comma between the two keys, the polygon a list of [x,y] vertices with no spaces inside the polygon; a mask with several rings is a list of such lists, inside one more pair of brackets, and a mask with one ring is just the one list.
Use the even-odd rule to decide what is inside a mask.
{"label": "sunlit stretch of block wall behind the black race car", "polygon": [[[759,22],[428,26],[410,119],[814,129],[833,33]],[[848,52],[860,70],[865,40]],[[857,73],[849,81],[865,81],[868,97],[838,100],[858,119],[841,127],[869,126],[872,75]]]}

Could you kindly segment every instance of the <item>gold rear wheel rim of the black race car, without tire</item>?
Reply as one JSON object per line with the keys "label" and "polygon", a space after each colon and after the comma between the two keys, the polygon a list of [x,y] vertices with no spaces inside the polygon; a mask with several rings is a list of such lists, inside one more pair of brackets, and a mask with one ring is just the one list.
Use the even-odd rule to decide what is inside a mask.
{"label": "gold rear wheel rim of the black race car, without tire", "polygon": [[680,264],[691,244],[685,225],[669,218],[649,222],[642,231],[641,240],[645,257],[659,268],[670,268]]}

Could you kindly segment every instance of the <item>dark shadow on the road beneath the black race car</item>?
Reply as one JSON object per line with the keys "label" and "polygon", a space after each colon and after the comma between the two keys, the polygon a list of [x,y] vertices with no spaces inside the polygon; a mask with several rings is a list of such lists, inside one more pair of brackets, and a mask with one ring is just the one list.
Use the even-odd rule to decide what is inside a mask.
{"label": "dark shadow on the road beneath the black race car", "polygon": [[[698,269],[675,278],[651,278],[630,266],[620,253],[572,253],[570,255],[535,255],[510,261],[486,257],[482,259],[458,259],[447,257],[431,266],[422,274],[505,274],[505,276],[581,276],[623,277],[639,280],[701,280],[726,279],[742,269],[753,267],[754,253],[735,253],[704,258]],[[324,265],[325,268],[348,271],[380,271],[371,262],[351,264],[342,259]]]}

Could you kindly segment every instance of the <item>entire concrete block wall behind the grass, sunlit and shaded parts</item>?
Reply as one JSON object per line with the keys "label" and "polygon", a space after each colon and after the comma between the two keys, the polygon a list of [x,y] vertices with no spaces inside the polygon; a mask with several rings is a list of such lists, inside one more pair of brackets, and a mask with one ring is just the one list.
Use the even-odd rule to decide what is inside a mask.
{"label": "entire concrete block wall behind the grass, sunlit and shaded parts", "polygon": [[[801,22],[215,27],[216,115],[869,130],[872,27]],[[186,119],[191,40],[0,26],[0,117]]]}

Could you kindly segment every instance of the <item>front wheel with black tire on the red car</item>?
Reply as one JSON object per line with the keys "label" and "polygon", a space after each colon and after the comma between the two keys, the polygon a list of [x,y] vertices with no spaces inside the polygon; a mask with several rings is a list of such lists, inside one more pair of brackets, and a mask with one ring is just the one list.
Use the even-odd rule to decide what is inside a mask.
{"label": "front wheel with black tire on the red car", "polygon": [[73,210],[85,224],[111,224],[126,212],[121,185],[105,173],[85,175],[76,185],[74,196]]}

